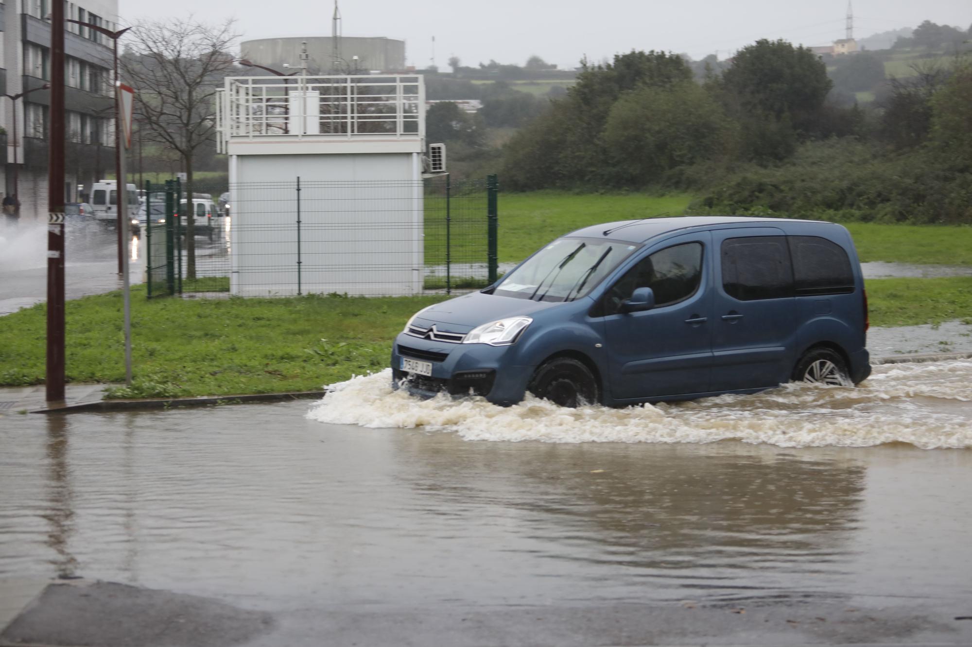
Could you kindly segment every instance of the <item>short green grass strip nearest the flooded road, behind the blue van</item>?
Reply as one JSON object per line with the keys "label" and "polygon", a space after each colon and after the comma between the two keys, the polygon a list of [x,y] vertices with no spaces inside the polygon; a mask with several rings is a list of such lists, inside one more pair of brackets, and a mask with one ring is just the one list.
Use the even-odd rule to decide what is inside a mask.
{"label": "short green grass strip nearest the flooded road, behind the blue van", "polygon": [[[872,325],[972,322],[972,277],[867,282]],[[388,365],[392,340],[444,296],[145,299],[132,289],[135,382],[116,397],[309,391]],[[67,302],[67,377],[121,382],[121,293]],[[41,384],[44,304],[0,318],[0,385]]]}

